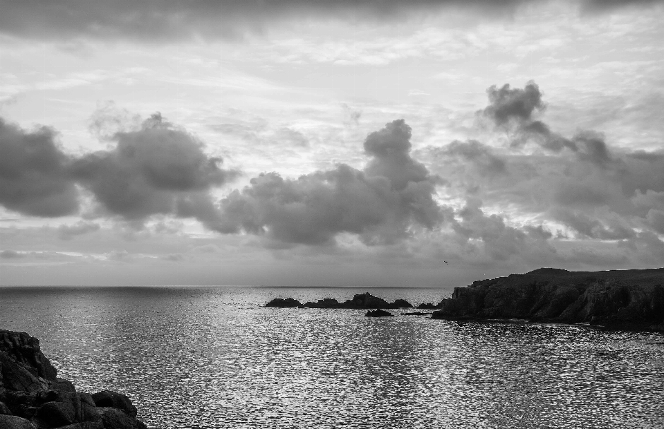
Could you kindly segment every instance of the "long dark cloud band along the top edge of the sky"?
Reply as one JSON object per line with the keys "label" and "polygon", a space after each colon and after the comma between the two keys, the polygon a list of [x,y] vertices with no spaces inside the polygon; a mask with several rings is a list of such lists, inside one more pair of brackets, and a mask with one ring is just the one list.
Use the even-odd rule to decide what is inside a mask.
{"label": "long dark cloud band along the top edge of the sky", "polygon": [[403,19],[444,7],[495,16],[519,3],[522,0],[0,0],[0,28],[27,37],[237,37],[289,17]]}

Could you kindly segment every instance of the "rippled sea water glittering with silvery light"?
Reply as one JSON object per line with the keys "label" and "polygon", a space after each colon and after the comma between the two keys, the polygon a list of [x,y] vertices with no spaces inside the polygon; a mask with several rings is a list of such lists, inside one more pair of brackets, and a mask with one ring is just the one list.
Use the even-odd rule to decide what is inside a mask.
{"label": "rippled sea water glittering with silvery light", "polygon": [[149,428],[664,428],[664,335],[262,307],[450,289],[3,287],[0,327]]}

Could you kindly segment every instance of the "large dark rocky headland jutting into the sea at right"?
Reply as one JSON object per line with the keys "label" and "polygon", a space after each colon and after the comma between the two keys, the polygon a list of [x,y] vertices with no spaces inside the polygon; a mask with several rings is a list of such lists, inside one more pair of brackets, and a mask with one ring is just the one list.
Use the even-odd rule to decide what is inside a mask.
{"label": "large dark rocky headland jutting into the sea at right", "polygon": [[566,271],[526,274],[456,287],[432,318],[591,323],[664,331],[664,269]]}

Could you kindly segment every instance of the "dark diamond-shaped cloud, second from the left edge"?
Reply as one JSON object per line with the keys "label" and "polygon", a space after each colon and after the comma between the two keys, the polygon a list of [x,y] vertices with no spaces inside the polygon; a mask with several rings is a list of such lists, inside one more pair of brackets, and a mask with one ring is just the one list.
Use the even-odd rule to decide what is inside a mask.
{"label": "dark diamond-shaped cloud, second from the left edge", "polygon": [[73,176],[110,213],[138,220],[174,213],[187,193],[205,193],[234,178],[221,158],[203,153],[194,135],[155,114],[138,131],[116,133],[116,148],[75,160]]}

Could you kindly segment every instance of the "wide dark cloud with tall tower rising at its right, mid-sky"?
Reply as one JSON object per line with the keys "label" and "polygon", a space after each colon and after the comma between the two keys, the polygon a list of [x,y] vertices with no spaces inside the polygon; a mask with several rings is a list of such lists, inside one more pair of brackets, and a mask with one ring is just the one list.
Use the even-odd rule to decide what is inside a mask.
{"label": "wide dark cloud with tall tower rising at its right, mid-sky", "polygon": [[221,200],[218,229],[310,245],[332,243],[342,232],[378,244],[403,238],[412,224],[431,229],[442,211],[433,199],[434,178],[409,154],[410,137],[404,120],[369,134],[364,147],[371,159],[363,171],[340,164],[295,180],[261,174]]}

